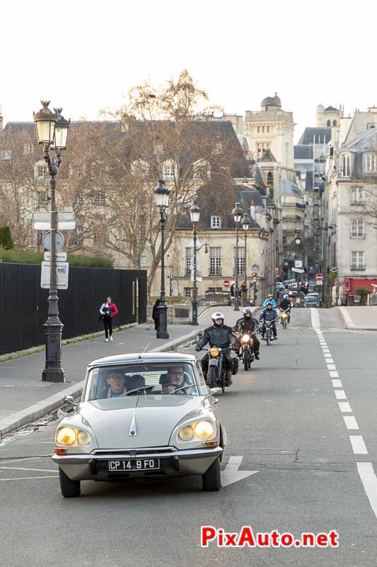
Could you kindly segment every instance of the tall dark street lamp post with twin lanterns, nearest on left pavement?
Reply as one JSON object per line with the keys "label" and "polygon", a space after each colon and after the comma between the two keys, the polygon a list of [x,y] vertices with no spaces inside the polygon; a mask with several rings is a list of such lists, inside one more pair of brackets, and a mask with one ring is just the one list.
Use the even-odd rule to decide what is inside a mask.
{"label": "tall dark street lamp post with twin lanterns, nearest on left pavement", "polygon": [[[38,143],[43,145],[43,159],[47,163],[50,175],[51,208],[50,208],[50,295],[48,297],[46,333],[46,363],[42,371],[42,381],[64,382],[62,367],[62,329],[59,319],[57,296],[57,207],[55,189],[57,186],[57,171],[62,162],[62,150],[66,149],[69,121],[62,115],[62,108],[48,108],[50,101],[41,101],[42,108],[33,113]],[[50,149],[55,155],[50,156]]]}

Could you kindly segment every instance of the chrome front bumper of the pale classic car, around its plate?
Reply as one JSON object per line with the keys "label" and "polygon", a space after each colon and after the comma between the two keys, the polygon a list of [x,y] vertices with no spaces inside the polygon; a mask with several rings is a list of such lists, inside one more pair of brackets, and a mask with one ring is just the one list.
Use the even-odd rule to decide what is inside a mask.
{"label": "chrome front bumper of the pale classic car, around its plate", "polygon": [[[52,461],[56,463],[66,476],[72,481],[122,481],[132,478],[147,477],[173,477],[202,475],[220,456],[223,449],[186,449],[174,450],[173,447],[167,451],[137,451],[130,454],[109,451],[96,452],[92,454],[54,454]],[[160,459],[160,468],[150,471],[109,471],[108,461],[129,461],[139,459]]]}

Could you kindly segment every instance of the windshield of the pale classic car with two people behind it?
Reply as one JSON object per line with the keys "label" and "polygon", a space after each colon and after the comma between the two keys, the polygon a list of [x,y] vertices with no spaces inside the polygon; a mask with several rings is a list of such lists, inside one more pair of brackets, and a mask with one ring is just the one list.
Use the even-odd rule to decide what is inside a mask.
{"label": "windshield of the pale classic car with two people behind it", "polygon": [[89,372],[83,400],[103,400],[127,395],[201,395],[202,376],[192,364],[142,363],[100,366]]}

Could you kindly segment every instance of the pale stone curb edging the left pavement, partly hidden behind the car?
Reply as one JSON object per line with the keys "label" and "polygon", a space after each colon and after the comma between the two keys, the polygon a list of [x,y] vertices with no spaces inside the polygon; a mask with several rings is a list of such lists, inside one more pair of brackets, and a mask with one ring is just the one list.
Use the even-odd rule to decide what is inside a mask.
{"label": "pale stone curb edging the left pavement, partly hidden behind the car", "polygon": [[[199,332],[201,332],[201,329],[192,331],[187,335],[179,337],[178,339],[167,342],[161,347],[156,347],[150,352],[164,352],[173,349],[174,347],[178,347],[180,344],[184,344],[190,339],[197,337],[197,335],[199,335]],[[100,335],[102,334],[103,333],[100,333]],[[65,395],[73,395],[74,398],[78,398],[83,390],[83,382],[84,381],[74,384],[74,386],[69,386],[69,388],[62,390],[61,392],[50,395],[50,397],[45,398],[45,400],[37,402],[33,405],[29,405],[28,408],[13,413],[13,415],[4,418],[4,420],[0,420],[0,442],[3,440],[3,437],[5,437],[5,435],[20,429],[20,427],[23,427],[24,425],[28,425],[28,423],[30,422],[39,420],[41,417],[47,415],[48,413],[51,413],[54,410],[57,410],[57,408],[63,405],[63,398]]]}

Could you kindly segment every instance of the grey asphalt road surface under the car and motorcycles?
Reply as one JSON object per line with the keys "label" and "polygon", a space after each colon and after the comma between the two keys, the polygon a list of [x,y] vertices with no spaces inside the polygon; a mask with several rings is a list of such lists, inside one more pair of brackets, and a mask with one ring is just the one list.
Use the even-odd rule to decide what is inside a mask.
{"label": "grey asphalt road surface under the car and motorcycles", "polygon": [[[320,330],[310,310],[294,310],[291,327],[271,347],[262,344],[261,360],[220,396],[222,466],[242,456],[240,470],[258,472],[219,493],[185,478],[85,482],[80,498],[64,499],[48,456],[56,422],[8,439],[0,446],[0,564],[376,566],[377,493],[373,500],[365,474],[369,463],[377,471],[376,333],[344,330],[338,315],[317,313]],[[350,437],[368,452],[355,453],[361,440]],[[204,524],[294,537],[336,530],[339,547],[202,548]]]}

